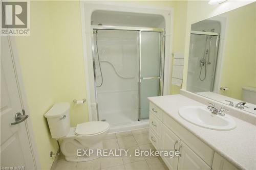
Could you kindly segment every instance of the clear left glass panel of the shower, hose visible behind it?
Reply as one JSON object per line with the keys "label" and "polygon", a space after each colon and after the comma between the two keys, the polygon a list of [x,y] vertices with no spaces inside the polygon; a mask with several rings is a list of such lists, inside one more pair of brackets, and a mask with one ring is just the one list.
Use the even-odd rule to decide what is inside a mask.
{"label": "clear left glass panel of the shower, hose visible behind it", "polygon": [[99,120],[112,126],[137,121],[138,32],[95,30],[94,42]]}

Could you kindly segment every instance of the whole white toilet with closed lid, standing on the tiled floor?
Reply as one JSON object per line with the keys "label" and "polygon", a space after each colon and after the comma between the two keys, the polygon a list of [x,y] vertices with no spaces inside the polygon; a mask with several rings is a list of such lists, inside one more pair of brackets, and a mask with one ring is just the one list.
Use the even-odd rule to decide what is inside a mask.
{"label": "whole white toilet with closed lid, standing on the tiled floor", "polygon": [[52,138],[62,139],[60,150],[67,161],[83,162],[98,158],[97,152],[90,156],[77,156],[77,150],[103,149],[102,139],[108,134],[110,125],[95,121],[78,124],[72,128],[69,110],[69,103],[57,103],[45,114]]}

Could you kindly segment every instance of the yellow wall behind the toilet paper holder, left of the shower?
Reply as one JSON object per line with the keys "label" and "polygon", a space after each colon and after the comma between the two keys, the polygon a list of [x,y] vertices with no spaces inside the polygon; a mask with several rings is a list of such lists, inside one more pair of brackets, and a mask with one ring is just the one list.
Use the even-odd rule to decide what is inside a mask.
{"label": "yellow wall behind the toilet paper holder, left of the shower", "polygon": [[74,99],[86,99],[87,96],[80,6],[78,1],[55,1],[50,6],[56,101],[70,102],[71,126],[75,127],[89,120],[87,104],[75,105],[72,102]]}

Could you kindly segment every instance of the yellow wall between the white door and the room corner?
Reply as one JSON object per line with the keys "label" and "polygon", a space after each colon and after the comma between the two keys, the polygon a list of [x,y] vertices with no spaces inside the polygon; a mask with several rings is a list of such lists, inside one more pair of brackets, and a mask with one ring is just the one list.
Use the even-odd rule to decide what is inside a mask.
{"label": "yellow wall between the white door and the room corner", "polygon": [[49,169],[57,142],[50,137],[44,114],[55,103],[49,4],[31,2],[31,35],[18,36],[16,46],[27,94],[33,133],[42,169]]}

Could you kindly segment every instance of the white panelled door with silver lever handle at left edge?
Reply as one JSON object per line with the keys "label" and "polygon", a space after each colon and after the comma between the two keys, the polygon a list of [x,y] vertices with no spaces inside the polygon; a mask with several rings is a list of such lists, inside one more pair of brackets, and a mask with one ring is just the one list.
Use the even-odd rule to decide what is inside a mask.
{"label": "white panelled door with silver lever handle at left edge", "polygon": [[35,169],[12,57],[8,37],[1,36],[1,168]]}

